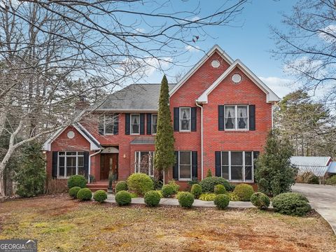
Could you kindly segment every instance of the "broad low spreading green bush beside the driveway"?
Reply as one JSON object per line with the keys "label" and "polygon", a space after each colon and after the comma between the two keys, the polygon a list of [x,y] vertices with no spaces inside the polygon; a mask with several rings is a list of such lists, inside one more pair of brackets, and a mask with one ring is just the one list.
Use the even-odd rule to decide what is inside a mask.
{"label": "broad low spreading green bush beside the driveway", "polygon": [[304,216],[311,210],[307,198],[299,193],[281,193],[272,204],[276,212],[290,216]]}

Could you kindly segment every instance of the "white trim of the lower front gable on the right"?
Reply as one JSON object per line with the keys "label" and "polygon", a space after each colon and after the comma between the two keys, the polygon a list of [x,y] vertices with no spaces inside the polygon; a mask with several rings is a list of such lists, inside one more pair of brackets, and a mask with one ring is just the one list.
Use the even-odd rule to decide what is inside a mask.
{"label": "white trim of the lower front gable on the right", "polygon": [[247,66],[245,66],[239,59],[237,59],[228,69],[226,69],[224,73],[222,73],[221,76],[219,76],[217,80],[215,80],[214,83],[211,84],[210,87],[207,88],[207,90],[205,90],[200,95],[200,97],[198,97],[197,102],[207,104],[208,95],[232,72],[233,69],[235,69],[236,66],[239,67],[239,69],[243,71],[246,76],[248,76],[248,78],[253,80],[253,83],[255,83],[255,85],[257,85],[263,92],[265,92],[266,102],[272,103],[278,102],[280,100],[280,98],[269,87],[267,87],[267,85],[263,83],[260,78],[255,76],[255,74],[250,69],[248,69]]}

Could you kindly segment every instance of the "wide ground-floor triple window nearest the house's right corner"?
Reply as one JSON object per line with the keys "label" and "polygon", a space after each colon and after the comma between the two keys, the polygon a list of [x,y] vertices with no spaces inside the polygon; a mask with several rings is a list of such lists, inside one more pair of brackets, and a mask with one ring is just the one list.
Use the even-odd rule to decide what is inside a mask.
{"label": "wide ground-floor triple window nearest the house's right corner", "polygon": [[253,151],[222,151],[222,177],[233,182],[253,182]]}

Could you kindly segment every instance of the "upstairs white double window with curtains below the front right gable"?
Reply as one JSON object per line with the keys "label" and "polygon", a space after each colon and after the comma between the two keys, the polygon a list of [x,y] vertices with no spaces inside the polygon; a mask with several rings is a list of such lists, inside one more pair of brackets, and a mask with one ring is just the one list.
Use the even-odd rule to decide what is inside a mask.
{"label": "upstairs white double window with curtains below the front right gable", "polygon": [[248,105],[224,106],[225,130],[248,130]]}

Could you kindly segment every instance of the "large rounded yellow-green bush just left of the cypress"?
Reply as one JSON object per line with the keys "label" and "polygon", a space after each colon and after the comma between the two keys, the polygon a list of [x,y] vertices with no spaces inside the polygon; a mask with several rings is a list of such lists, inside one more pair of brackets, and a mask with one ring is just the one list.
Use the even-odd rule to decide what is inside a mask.
{"label": "large rounded yellow-green bush just left of the cypress", "polygon": [[145,195],[150,190],[154,189],[154,184],[150,176],[147,174],[132,174],[127,179],[128,189],[137,195]]}

